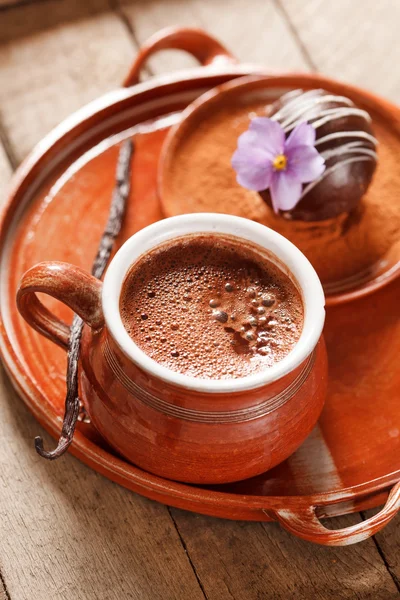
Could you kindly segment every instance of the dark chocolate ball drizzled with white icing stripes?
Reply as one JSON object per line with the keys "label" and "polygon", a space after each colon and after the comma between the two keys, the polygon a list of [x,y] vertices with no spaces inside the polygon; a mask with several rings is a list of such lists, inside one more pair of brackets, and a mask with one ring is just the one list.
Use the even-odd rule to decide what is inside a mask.
{"label": "dark chocolate ball drizzled with white icing stripes", "polygon": [[[304,121],[316,131],[315,147],[325,172],[303,185],[298,204],[282,212],[286,219],[321,221],[350,212],[360,202],[374,174],[377,140],[371,117],[344,96],[325,90],[293,90],[273,103],[267,116],[278,121],[286,137]],[[269,191],[260,192],[271,205]]]}

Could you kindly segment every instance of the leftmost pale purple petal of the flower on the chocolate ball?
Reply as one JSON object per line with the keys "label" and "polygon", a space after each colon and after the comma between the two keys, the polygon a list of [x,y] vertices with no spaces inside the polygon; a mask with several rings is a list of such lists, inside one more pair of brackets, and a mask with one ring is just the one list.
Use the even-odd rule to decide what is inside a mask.
{"label": "leftmost pale purple petal of the flower on the chocolate ball", "polygon": [[239,185],[261,192],[271,184],[272,162],[265,152],[253,147],[247,151],[238,148],[232,156],[232,167],[236,171],[236,180]]}

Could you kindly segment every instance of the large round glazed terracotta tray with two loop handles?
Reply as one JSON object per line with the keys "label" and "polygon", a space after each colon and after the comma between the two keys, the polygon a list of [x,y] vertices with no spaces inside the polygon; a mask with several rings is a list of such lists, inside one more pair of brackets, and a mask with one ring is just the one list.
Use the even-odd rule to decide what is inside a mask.
{"label": "large round glazed terracotta tray with two loop handles", "polygon": [[[55,437],[63,415],[66,357],[17,314],[21,274],[49,259],[90,267],[114,185],[117,144],[127,136],[135,135],[137,150],[120,243],[161,218],[157,160],[170,125],[206,89],[260,70],[234,64],[204,33],[168,31],[146,45],[127,83],[137,82],[152,51],[167,46],[189,50],[210,65],[116,90],[75,113],[19,168],[2,214],[1,353],[19,394]],[[218,488],[163,480],[113,454],[86,423],[79,424],[71,451],[106,477],[169,505],[230,519],[279,520],[296,535],[324,544],[364,539],[400,506],[399,293],[397,279],[374,295],[329,308],[326,408],[303,446],[262,476]],[[71,318],[54,300],[45,302],[60,317]],[[348,530],[331,531],[319,521],[385,500],[378,515]]]}

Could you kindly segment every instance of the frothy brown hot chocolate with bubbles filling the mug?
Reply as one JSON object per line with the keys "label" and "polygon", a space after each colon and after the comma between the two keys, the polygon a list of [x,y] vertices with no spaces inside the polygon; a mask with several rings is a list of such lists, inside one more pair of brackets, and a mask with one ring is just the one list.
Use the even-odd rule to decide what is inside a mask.
{"label": "frothy brown hot chocolate with bubbles filling the mug", "polygon": [[303,326],[291,279],[258,246],[222,234],[184,236],[140,257],[125,278],[120,313],[148,356],[202,379],[271,367]]}

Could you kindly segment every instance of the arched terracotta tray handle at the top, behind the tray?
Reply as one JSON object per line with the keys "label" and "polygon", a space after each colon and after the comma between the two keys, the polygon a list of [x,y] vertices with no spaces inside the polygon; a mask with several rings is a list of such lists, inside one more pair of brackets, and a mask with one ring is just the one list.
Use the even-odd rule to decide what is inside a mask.
{"label": "arched terracotta tray handle at the top, behind the tray", "polygon": [[166,27],[152,35],[141,47],[135,62],[124,80],[124,87],[139,83],[140,72],[147,60],[160,50],[185,50],[203,66],[215,62],[236,64],[234,56],[216,39],[202,29]]}

